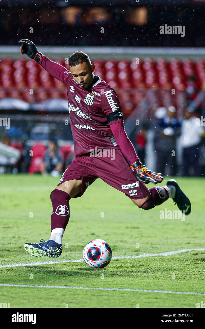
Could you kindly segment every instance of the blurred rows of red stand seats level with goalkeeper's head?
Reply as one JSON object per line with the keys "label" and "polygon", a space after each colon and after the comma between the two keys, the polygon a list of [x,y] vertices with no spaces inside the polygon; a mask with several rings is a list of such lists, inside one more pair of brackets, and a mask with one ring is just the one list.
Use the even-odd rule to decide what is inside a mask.
{"label": "blurred rows of red stand seats level with goalkeeper's head", "polygon": [[[57,58],[56,61],[69,69],[69,64],[65,64],[63,58]],[[172,58],[168,61],[166,58],[153,60],[147,57],[139,60],[133,58],[132,61],[96,59],[94,63],[95,74],[116,89],[120,101],[129,103],[126,115],[141,101],[144,95],[143,89],[166,91],[174,88],[176,92],[178,90],[181,93],[186,89],[190,75],[197,77],[198,88],[202,88],[205,81],[205,61],[203,59],[194,61],[188,58],[184,60]],[[25,58],[17,60],[6,58],[0,61],[0,70],[0,87],[2,87],[0,99],[15,97],[29,103],[41,103],[50,98],[67,99],[65,85],[53,78],[35,61],[25,60]],[[30,89],[33,89],[32,95],[30,95]],[[123,92],[120,91],[121,89]],[[138,91],[140,92],[138,93]],[[123,96],[123,93],[126,96]],[[129,96],[127,96],[128,94]],[[156,96],[156,102],[163,106],[164,98],[160,99],[159,95],[160,93]],[[181,99],[179,98],[180,102],[182,102]],[[176,103],[179,104],[179,102]]]}

